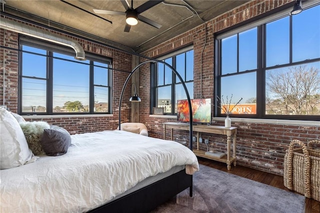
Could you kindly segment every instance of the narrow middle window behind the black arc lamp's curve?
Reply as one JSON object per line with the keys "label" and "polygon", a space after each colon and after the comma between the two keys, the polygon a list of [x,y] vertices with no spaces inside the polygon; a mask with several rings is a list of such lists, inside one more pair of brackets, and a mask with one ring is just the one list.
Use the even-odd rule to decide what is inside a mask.
{"label": "narrow middle window behind the black arc lamp's curve", "polygon": [[[187,87],[190,98],[193,98],[193,49],[191,48],[181,49],[159,59],[176,69]],[[163,63],[151,64],[150,96],[151,107],[163,107],[164,114],[176,114],[176,100],[186,99],[181,80]]]}

